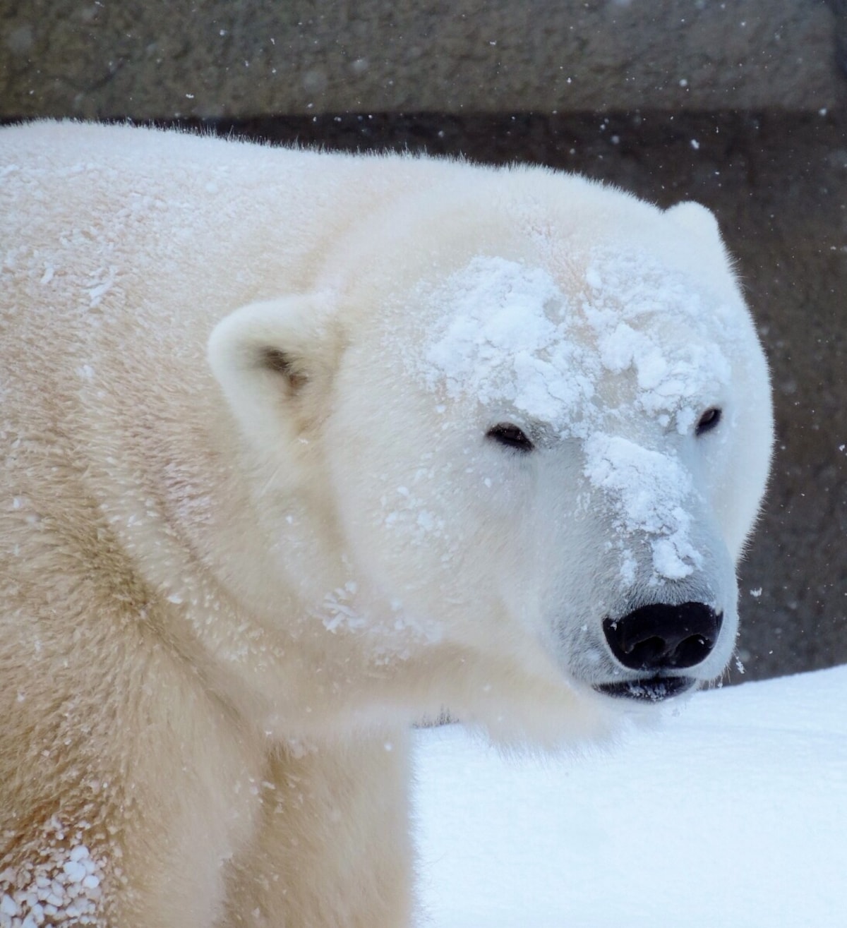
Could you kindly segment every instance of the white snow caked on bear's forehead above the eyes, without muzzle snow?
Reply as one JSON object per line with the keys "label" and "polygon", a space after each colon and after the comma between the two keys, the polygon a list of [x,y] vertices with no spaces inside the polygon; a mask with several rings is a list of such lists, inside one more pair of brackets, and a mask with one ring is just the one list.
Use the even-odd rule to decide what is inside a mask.
{"label": "white snow caked on bear's forehead above the eyes, without muzzle snow", "polygon": [[729,379],[716,343],[728,310],[707,311],[687,277],[643,252],[598,249],[580,277],[564,290],[543,268],[478,256],[425,290],[440,320],[423,354],[430,386],[564,431],[596,416],[590,401],[604,375],[632,369],[628,402],[676,413],[687,431],[687,403],[707,401]]}

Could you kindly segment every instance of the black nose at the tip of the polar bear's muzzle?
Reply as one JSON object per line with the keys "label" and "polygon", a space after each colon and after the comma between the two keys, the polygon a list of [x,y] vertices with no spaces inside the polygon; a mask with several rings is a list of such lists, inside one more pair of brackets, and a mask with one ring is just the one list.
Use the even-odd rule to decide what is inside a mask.
{"label": "black nose at the tip of the polar bear's muzzle", "polygon": [[702,602],[656,602],[620,619],[604,619],[612,654],[632,670],[693,667],[712,653],[723,612]]}

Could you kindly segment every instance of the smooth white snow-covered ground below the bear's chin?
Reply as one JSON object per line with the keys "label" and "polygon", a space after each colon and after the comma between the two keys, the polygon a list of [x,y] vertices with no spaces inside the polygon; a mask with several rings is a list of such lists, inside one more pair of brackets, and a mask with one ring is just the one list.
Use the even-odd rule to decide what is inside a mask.
{"label": "smooth white snow-covered ground below the bear's chin", "polygon": [[699,693],[582,757],[417,734],[431,928],[847,925],[847,666]]}

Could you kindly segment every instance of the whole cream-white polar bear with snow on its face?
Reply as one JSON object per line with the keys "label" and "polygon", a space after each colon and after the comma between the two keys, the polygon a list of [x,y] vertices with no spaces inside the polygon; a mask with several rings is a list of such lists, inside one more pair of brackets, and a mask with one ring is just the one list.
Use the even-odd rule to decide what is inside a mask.
{"label": "whole cream-white polar bear with snow on its face", "polygon": [[722,673],[772,416],[704,208],[42,122],[0,229],[0,925],[406,924],[410,726]]}

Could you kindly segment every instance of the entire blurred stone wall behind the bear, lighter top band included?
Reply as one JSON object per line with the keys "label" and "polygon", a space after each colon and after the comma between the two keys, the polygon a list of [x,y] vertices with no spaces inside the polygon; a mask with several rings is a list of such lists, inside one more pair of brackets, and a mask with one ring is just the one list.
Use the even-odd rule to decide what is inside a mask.
{"label": "entire blurred stone wall behind the bear, lighter top band included", "polygon": [[0,119],[532,161],[711,207],[774,373],[738,649],[766,677],[847,662],[845,6],[0,0]]}

